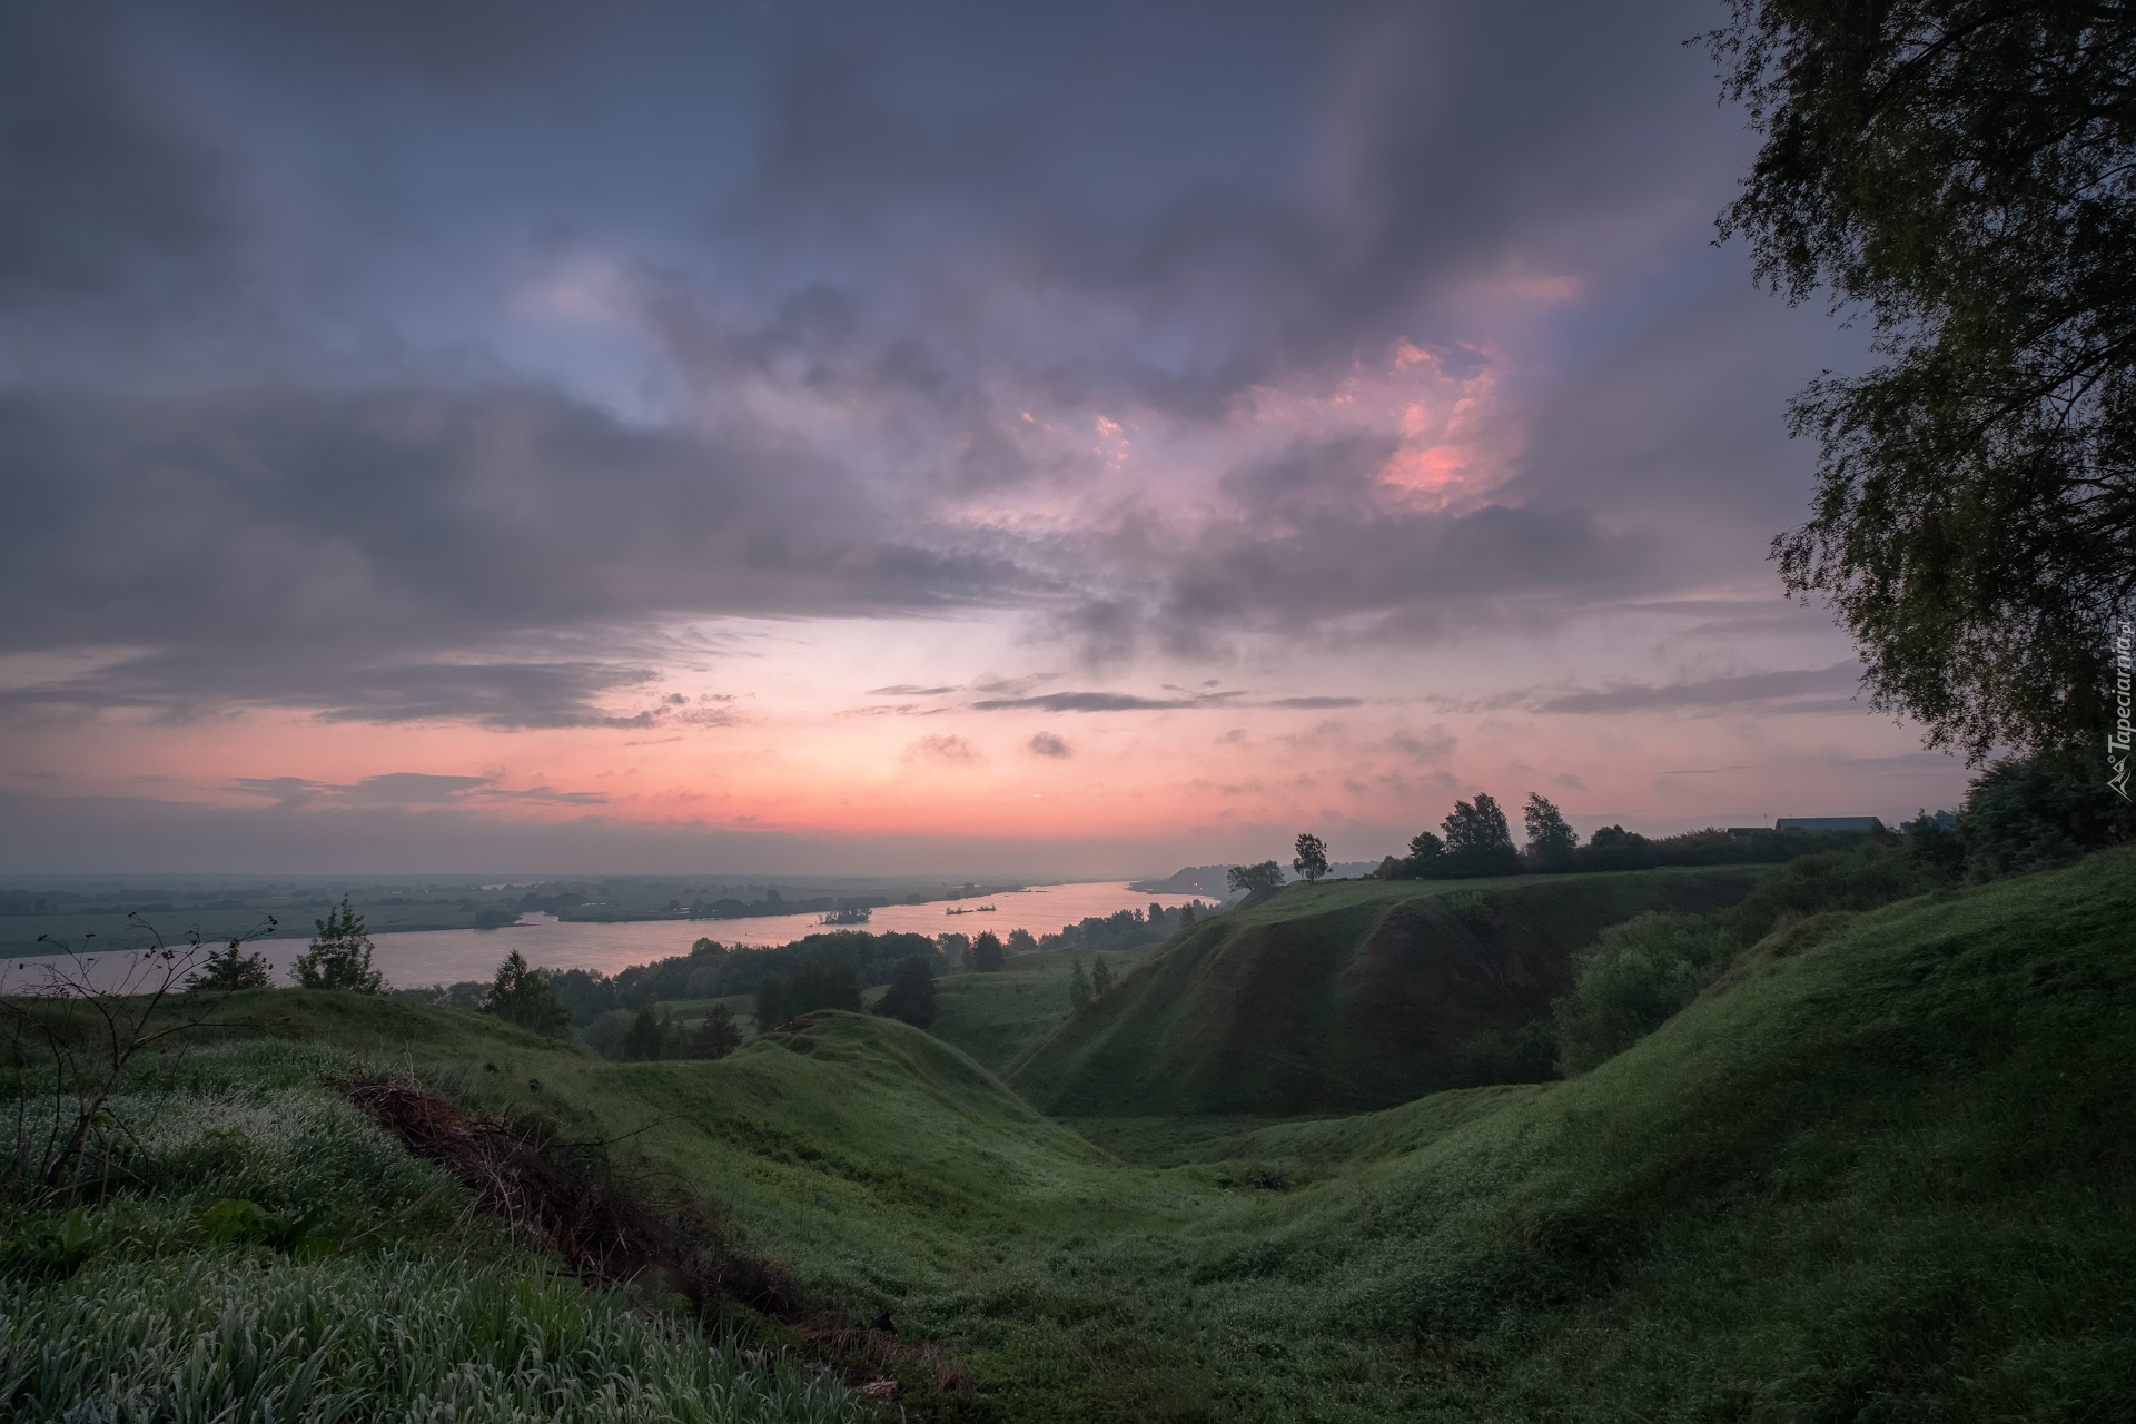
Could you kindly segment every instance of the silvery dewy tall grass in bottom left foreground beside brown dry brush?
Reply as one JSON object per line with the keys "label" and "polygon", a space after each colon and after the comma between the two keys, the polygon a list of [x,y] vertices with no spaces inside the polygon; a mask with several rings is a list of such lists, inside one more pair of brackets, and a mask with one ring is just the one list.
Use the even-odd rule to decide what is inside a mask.
{"label": "silvery dewy tall grass in bottom left foreground beside brown dry brush", "polygon": [[[837,1379],[515,1251],[325,1087],[357,1067],[290,1042],[143,1059],[98,1174],[0,1202],[0,1418],[871,1418]],[[49,1089],[26,1065],[0,1106]]]}

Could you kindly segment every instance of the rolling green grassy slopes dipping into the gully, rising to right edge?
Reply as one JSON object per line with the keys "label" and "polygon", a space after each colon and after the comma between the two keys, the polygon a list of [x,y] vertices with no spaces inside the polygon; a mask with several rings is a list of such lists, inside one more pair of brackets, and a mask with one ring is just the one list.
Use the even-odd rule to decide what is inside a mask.
{"label": "rolling green grassy slopes dipping into the gully, rising to right edge", "polygon": [[[1299,903],[1358,914],[1339,903],[1358,895]],[[1282,905],[1247,916],[1279,927]],[[2130,924],[2127,852],[1833,916],[1769,937],[1572,1082],[1115,1121],[1134,1166],[965,1053],[854,1014],[718,1063],[619,1065],[470,1014],[273,991],[218,1014],[237,1042],[211,1053],[229,1055],[218,1093],[246,1072],[237,1097],[267,1108],[222,1127],[265,1136],[261,1095],[372,1059],[607,1140],[722,1202],[824,1302],[933,1343],[983,1390],[970,1418],[2110,1420],[2136,1418]],[[372,1146],[295,1151],[320,1166],[278,1200],[348,1191],[342,1176],[378,1198],[365,1211],[419,1196],[419,1172],[357,1138]],[[11,1236],[36,1230],[9,1213]],[[9,1283],[0,1319],[164,1309],[128,1294],[143,1262],[312,1279],[203,1238],[197,1204],[117,1191],[88,1215],[100,1255],[70,1283]],[[162,1225],[128,1225],[143,1219]],[[449,1260],[438,1236],[404,1245]],[[363,1251],[327,1266],[346,1289],[397,1270]],[[0,1332],[0,1388],[43,1339]]]}

